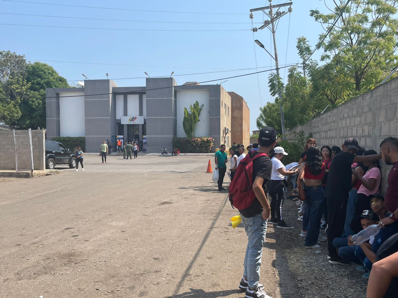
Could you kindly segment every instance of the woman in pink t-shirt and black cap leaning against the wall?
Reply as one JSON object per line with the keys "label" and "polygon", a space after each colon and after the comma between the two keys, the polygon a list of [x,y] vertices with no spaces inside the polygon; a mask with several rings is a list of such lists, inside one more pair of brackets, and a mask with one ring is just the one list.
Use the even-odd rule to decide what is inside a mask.
{"label": "woman in pink t-shirt and black cap leaning against the wall", "polygon": [[[363,153],[364,156],[377,154],[375,150],[367,150]],[[357,216],[361,215],[362,211],[369,208],[371,202],[371,195],[378,194],[381,181],[380,163],[378,161],[364,163],[369,168],[365,175],[361,177],[356,171],[353,171],[355,178],[361,181],[362,185],[357,191],[357,206],[355,207],[355,216],[351,223],[351,228],[354,233],[361,231],[361,223],[357,220]]]}

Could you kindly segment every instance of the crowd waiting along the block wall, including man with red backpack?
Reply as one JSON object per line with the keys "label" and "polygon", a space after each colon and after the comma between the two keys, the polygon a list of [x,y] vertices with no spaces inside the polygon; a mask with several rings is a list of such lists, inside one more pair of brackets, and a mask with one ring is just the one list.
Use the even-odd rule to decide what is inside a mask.
{"label": "crowd waiting along the block wall, including man with red backpack", "polygon": [[[302,221],[300,236],[305,238],[304,247],[319,250],[321,242],[327,242],[329,263],[357,264],[357,270],[364,278],[370,276],[368,294],[373,293],[373,296],[368,297],[384,297],[390,284],[375,283],[373,279],[377,277],[373,274],[372,267],[376,267],[378,274],[381,274],[379,271],[383,266],[383,273],[389,281],[398,276],[397,268],[386,262],[382,262],[382,265],[377,262],[380,246],[398,233],[398,139],[384,139],[380,143],[380,153],[361,148],[352,137],[346,139],[341,148],[335,144],[330,145],[324,145],[319,150],[316,140],[308,139],[297,163],[298,167],[291,168],[292,170],[283,165],[283,156],[288,153],[277,144],[273,128],[260,130],[258,144],[247,148],[249,157],[246,159],[243,145],[234,143],[229,149],[231,180],[239,179],[236,172],[242,175],[238,169],[242,160],[246,169],[252,163],[253,170],[252,191],[255,199],[249,207],[239,209],[248,235],[244,273],[239,284],[246,291],[245,297],[269,297],[259,283],[265,231],[267,223],[276,224],[277,228],[293,228],[285,222],[282,206],[287,187],[286,178],[296,174],[297,182],[292,179],[294,190],[291,198],[300,206],[301,216],[298,220]],[[222,145],[215,155],[220,177],[219,191],[225,189],[222,187],[228,162],[225,149],[225,145]],[[266,155],[255,159],[257,153]],[[385,196],[380,194],[380,159],[393,165],[388,175]],[[233,205],[231,190],[229,196]],[[380,225],[381,230],[376,230],[368,241],[355,245],[352,236],[372,224]],[[325,228],[326,237],[321,235],[322,228]],[[398,248],[395,251],[397,250]],[[398,263],[398,252],[394,255],[391,264]]]}

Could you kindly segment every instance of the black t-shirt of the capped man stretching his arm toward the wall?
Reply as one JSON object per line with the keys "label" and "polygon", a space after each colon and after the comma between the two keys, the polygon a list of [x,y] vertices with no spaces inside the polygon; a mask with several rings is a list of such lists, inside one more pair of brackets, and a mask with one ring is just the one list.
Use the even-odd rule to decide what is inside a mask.
{"label": "black t-shirt of the capped man stretching his arm toward the wall", "polygon": [[351,190],[351,164],[355,155],[339,152],[330,163],[328,181],[326,182],[325,197],[336,200],[347,200]]}

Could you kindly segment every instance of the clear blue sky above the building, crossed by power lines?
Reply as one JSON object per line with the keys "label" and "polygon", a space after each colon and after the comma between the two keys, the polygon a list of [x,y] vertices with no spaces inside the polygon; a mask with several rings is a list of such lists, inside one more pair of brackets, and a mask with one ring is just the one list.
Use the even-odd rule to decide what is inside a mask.
{"label": "clear blue sky above the building, crossed by power lines", "polygon": [[[23,0],[22,0],[23,1]],[[35,0],[31,0],[35,1]],[[108,21],[88,19],[68,19],[59,17],[38,17],[28,15],[0,14],[0,23],[47,25],[63,27],[96,27],[119,29],[161,29],[161,30],[232,30],[251,29],[250,8],[268,5],[268,1],[49,1],[42,3],[68,4],[76,6],[96,6],[133,10],[158,10],[174,12],[206,12],[224,14],[181,14],[164,12],[137,12],[97,8],[66,7],[34,3],[9,2],[0,0],[1,13],[52,15],[62,17],[82,17],[101,19],[124,19],[141,21],[175,21],[198,23],[144,23],[132,21]],[[288,1],[286,1],[288,2]],[[273,0],[273,4],[285,3]],[[331,4],[331,0],[326,0]],[[277,46],[280,66],[300,62],[296,50],[296,40],[305,36],[310,45],[316,45],[322,28],[310,16],[310,9],[325,11],[324,2],[318,0],[293,1],[293,12],[281,18],[277,27]],[[262,22],[266,18],[258,12],[253,21]],[[204,24],[215,22],[222,24]],[[229,23],[229,24],[227,24]],[[238,23],[238,24],[231,24]],[[254,24],[259,27],[261,24]],[[255,68],[254,48],[256,48],[258,67],[275,66],[270,56],[259,46],[254,47],[252,31],[211,31],[211,32],[168,32],[168,31],[122,31],[104,29],[71,29],[51,27],[26,27],[0,25],[2,28],[1,50],[11,50],[25,54],[30,61],[57,60],[90,62],[101,64],[81,64],[65,62],[46,62],[67,80],[81,80],[81,74],[89,79],[109,79],[169,76],[174,71],[178,84],[186,81],[208,81],[233,75],[248,74],[256,70],[239,70],[213,74],[183,75],[201,72],[216,72],[230,69]],[[266,48],[273,53],[271,33],[263,29],[254,33]],[[286,59],[287,54],[287,59]],[[314,57],[318,57],[318,52]],[[45,62],[45,61],[43,61]],[[129,64],[137,66],[117,66]],[[264,70],[259,69],[259,70]],[[287,73],[287,72],[286,72]],[[268,72],[229,79],[223,83],[227,91],[234,91],[248,102],[250,108],[250,130],[256,129],[256,118],[261,103],[271,101],[267,85]],[[285,70],[281,70],[283,77]],[[144,86],[142,79],[118,79],[119,86]],[[214,83],[220,83],[222,80]]]}

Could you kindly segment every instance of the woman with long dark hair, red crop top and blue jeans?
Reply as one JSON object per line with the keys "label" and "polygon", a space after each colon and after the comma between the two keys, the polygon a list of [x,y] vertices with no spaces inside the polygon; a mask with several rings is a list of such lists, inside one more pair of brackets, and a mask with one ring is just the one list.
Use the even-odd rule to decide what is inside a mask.
{"label": "woman with long dark hair, red crop top and blue jeans", "polygon": [[302,220],[303,233],[306,232],[305,248],[320,248],[316,243],[326,241],[326,237],[319,236],[320,220],[323,213],[324,188],[322,180],[326,172],[322,155],[316,147],[309,147],[306,161],[300,167],[298,188],[304,181],[306,199],[304,201],[304,216]]}

